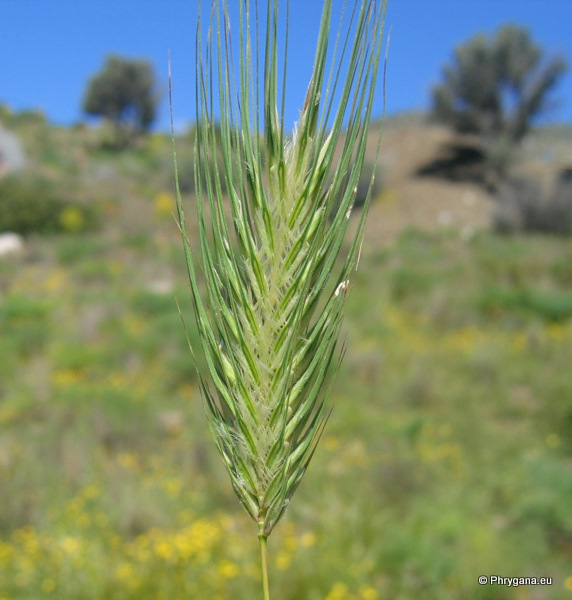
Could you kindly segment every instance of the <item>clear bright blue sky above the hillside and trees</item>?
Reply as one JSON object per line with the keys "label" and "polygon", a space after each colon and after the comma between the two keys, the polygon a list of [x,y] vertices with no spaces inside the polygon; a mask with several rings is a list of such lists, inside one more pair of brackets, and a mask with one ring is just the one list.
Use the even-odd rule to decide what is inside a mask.
{"label": "clear bright blue sky above the hillside and trees", "polygon": [[[334,2],[336,7],[343,4]],[[87,81],[101,69],[107,54],[149,60],[166,92],[170,50],[176,122],[191,122],[197,4],[198,0],[0,0],[0,103],[14,110],[40,109],[52,122],[72,124],[82,119]],[[296,120],[304,98],[322,2],[291,0],[290,5],[287,123]],[[439,81],[455,45],[508,22],[529,28],[548,54],[563,54],[572,63],[572,0],[389,0],[388,113],[426,109],[431,86]],[[545,121],[572,122],[572,70],[553,100]],[[377,107],[380,113],[381,101]],[[165,94],[157,127],[166,128],[168,118]]]}

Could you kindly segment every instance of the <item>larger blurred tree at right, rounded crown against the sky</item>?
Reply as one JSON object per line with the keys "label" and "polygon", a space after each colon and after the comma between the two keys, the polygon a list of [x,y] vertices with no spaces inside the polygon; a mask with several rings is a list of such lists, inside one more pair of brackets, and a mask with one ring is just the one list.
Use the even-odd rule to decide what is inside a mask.
{"label": "larger blurred tree at right, rounded crown against the sky", "polygon": [[459,133],[476,134],[488,168],[503,174],[550,93],[566,72],[563,57],[548,58],[527,29],[501,27],[455,49],[433,91],[434,118]]}

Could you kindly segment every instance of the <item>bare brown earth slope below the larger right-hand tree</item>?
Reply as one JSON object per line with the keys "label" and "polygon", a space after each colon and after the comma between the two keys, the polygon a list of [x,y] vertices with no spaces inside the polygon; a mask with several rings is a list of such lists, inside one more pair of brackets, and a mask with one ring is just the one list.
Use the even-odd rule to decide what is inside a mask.
{"label": "bare brown earth slope below the larger right-hand tree", "polygon": [[[490,228],[495,199],[484,186],[419,175],[424,167],[447,157],[457,141],[446,127],[427,124],[423,115],[388,119],[380,159],[385,194],[372,207],[370,244],[388,243],[407,227],[435,231],[446,226],[463,236]],[[556,173],[570,165],[572,129],[552,126],[530,135],[516,154],[512,172],[537,178],[547,190]]]}

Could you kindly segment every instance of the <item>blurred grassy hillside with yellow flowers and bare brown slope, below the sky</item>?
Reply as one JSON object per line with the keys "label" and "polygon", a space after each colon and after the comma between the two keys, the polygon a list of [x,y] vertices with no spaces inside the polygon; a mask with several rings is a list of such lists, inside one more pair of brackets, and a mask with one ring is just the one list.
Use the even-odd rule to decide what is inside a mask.
{"label": "blurred grassy hillside with yellow flowers and bare brown slope, below the sky", "polygon": [[[0,259],[0,599],[257,597],[175,302],[193,339],[170,140],[4,123],[28,166],[0,192],[54,200]],[[497,234],[482,187],[419,175],[447,135],[386,124],[334,411],[270,540],[281,599],[572,594],[572,239]]]}

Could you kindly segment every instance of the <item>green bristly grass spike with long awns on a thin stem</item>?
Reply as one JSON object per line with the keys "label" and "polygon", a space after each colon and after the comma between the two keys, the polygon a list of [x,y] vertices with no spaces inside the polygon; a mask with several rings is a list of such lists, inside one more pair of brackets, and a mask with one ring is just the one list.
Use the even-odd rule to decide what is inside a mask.
{"label": "green bristly grass spike with long awns on a thin stem", "polygon": [[328,417],[329,367],[359,260],[368,202],[349,249],[342,248],[364,163],[385,0],[344,9],[333,48],[332,0],[324,1],[312,76],[291,134],[284,127],[288,5],[279,43],[278,0],[268,0],[264,35],[257,2],[238,4],[238,65],[227,2],[212,3],[206,47],[199,15],[196,254],[178,190],[177,208],[208,365],[200,385],[232,486],[258,526],[269,600],[267,538]]}

